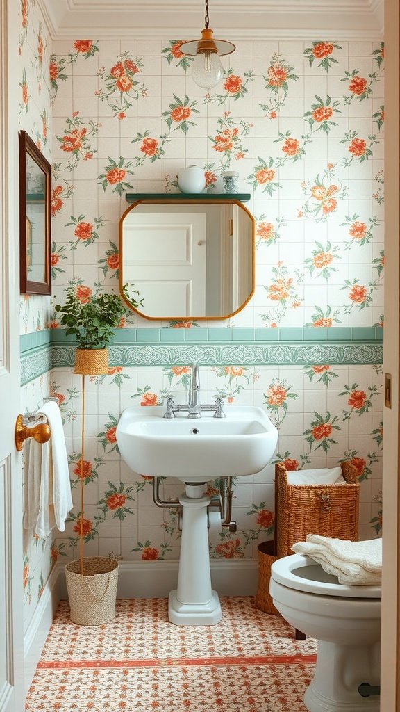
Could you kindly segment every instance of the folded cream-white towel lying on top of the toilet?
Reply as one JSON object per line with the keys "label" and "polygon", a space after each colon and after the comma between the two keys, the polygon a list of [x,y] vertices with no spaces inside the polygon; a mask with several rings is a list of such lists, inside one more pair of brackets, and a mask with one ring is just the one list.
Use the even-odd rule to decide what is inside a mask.
{"label": "folded cream-white towel lying on top of the toilet", "polygon": [[297,554],[310,556],[328,574],[346,585],[379,585],[382,570],[382,540],[348,541],[308,534],[293,544]]}

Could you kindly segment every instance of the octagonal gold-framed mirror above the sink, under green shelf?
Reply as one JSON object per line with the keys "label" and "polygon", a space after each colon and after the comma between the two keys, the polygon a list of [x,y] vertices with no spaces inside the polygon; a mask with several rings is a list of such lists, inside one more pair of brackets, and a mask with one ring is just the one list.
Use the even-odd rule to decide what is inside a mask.
{"label": "octagonal gold-framed mirror above the sink, under green shelf", "polygon": [[120,220],[120,293],[145,319],[225,319],[254,292],[256,221],[234,199],[140,199]]}

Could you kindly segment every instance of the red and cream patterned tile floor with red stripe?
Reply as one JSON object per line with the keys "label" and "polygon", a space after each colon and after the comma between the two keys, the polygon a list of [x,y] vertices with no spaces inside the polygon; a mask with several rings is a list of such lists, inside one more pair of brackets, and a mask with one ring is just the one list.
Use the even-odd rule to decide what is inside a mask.
{"label": "red and cream patterned tile floor with red stripe", "polygon": [[27,712],[306,712],[316,643],[251,597],[222,598],[216,626],[174,626],[167,599],[117,602],[82,627],[60,603]]}

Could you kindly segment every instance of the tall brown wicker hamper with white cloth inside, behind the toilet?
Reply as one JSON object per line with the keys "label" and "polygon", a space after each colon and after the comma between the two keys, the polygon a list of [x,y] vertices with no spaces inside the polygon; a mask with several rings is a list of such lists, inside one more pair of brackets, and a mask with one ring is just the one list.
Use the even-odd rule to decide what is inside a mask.
{"label": "tall brown wicker hamper with white cloth inside, behind the toilet", "polygon": [[[307,534],[358,539],[359,483],[355,468],[342,462],[345,483],[288,484],[285,466],[275,464],[275,538],[278,557],[293,553],[292,545]],[[294,473],[291,472],[293,475]]]}

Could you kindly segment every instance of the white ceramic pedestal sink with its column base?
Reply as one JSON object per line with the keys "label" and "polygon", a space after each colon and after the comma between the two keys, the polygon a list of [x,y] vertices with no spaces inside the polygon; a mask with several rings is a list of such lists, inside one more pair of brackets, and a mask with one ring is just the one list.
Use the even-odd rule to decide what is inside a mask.
{"label": "white ceramic pedestal sink with its column base", "polygon": [[278,431],[263,409],[232,406],[227,417],[184,412],[164,419],[162,406],[122,412],[117,444],[133,471],[177,477],[185,483],[177,590],[169,594],[169,620],[177,625],[214,625],[221,620],[218,594],[211,589],[207,507],[204,484],[217,477],[253,475],[268,464]]}

